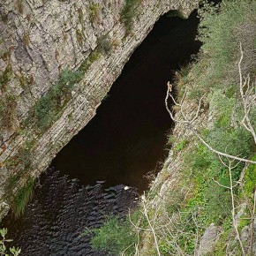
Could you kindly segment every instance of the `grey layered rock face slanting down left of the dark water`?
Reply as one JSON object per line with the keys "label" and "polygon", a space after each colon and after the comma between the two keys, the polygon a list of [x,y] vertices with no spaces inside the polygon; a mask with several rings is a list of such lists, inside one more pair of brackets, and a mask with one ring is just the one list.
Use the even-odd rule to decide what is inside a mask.
{"label": "grey layered rock face slanting down left of the dark water", "polygon": [[[120,20],[124,0],[7,0],[0,4],[0,220],[19,187],[39,176],[94,117],[155,21],[170,10],[187,17],[198,2],[142,0],[129,33]],[[81,66],[79,79],[72,77]],[[59,91],[68,87],[63,82],[63,87],[54,87],[64,71],[69,71],[66,76],[74,86],[69,94],[61,94],[55,111],[46,103],[52,104],[49,92],[56,100]],[[53,117],[44,129],[34,119],[38,111],[42,120]]]}

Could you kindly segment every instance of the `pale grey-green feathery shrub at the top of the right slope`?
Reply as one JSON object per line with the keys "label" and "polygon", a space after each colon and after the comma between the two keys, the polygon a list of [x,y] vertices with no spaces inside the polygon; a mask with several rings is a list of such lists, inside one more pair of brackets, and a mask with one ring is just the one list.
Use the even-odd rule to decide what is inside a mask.
{"label": "pale grey-green feathery shrub at the top of the right slope", "polygon": [[253,71],[256,57],[251,42],[256,36],[255,11],[256,2],[250,0],[222,1],[217,7],[205,4],[200,9],[199,39],[203,45],[200,61],[192,69],[198,87],[236,85],[239,42],[245,47],[244,73]]}

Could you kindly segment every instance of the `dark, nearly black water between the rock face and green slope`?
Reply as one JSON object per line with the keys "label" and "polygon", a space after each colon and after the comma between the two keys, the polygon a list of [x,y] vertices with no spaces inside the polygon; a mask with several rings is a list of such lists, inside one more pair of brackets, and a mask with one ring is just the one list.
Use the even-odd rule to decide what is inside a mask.
{"label": "dark, nearly black water between the rock face and green slope", "polygon": [[41,175],[25,214],[4,219],[22,255],[104,255],[79,235],[100,226],[106,215],[125,215],[147,189],[144,175],[164,160],[172,125],[164,106],[166,84],[197,53],[197,25],[195,12],[155,24],[97,115]]}

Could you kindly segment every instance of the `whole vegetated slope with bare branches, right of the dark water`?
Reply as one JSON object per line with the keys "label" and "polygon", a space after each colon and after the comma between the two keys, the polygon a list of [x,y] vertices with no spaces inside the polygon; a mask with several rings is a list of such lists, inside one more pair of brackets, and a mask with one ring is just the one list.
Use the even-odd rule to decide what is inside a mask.
{"label": "whole vegetated slope with bare branches, right of the dark water", "polygon": [[[94,247],[122,255],[253,255],[255,12],[249,0],[200,9],[200,54],[177,74],[173,118],[184,135],[169,139],[176,173],[165,165],[158,177],[162,198],[161,184],[154,185],[137,218],[106,222],[95,231]],[[211,223],[215,243],[205,248],[201,237]]]}

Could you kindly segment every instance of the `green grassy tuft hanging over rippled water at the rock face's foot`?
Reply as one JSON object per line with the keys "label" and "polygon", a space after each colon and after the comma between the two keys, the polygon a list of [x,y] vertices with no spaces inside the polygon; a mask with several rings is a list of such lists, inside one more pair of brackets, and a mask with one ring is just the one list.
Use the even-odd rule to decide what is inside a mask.
{"label": "green grassy tuft hanging over rippled water at the rock face's foot", "polygon": [[32,198],[34,191],[34,179],[30,177],[26,184],[19,189],[13,200],[12,210],[14,215],[22,215],[27,202]]}

